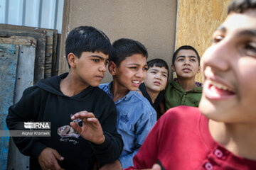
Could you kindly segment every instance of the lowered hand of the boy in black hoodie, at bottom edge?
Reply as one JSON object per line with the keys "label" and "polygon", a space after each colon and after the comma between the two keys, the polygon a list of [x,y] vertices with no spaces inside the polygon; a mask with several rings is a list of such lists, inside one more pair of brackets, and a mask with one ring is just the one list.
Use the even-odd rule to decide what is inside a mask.
{"label": "lowered hand of the boy in black hoodie, at bottom edge", "polygon": [[55,169],[55,170],[64,170],[58,164],[58,161],[63,161],[64,158],[55,150],[50,147],[46,147],[39,154],[38,162],[41,166],[41,169]]}

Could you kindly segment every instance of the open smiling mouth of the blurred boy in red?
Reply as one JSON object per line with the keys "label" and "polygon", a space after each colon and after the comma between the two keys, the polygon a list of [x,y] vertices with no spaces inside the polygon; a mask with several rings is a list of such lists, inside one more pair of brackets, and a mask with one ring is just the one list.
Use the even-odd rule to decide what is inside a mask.
{"label": "open smiling mouth of the blurred boy in red", "polygon": [[225,99],[235,95],[230,87],[216,81],[207,80],[204,84],[204,94],[212,99]]}

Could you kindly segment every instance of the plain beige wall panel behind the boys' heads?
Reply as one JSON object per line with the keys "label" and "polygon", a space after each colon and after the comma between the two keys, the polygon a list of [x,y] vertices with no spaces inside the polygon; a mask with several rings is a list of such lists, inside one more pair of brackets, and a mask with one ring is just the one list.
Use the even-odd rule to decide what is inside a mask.
{"label": "plain beige wall panel behind the boys' heads", "polygon": [[[94,26],[111,42],[132,38],[142,42],[149,59],[171,64],[176,30],[176,0],[65,0],[60,46],[59,74],[68,71],[64,42],[67,32],[78,26]],[[112,78],[107,73],[103,82]]]}

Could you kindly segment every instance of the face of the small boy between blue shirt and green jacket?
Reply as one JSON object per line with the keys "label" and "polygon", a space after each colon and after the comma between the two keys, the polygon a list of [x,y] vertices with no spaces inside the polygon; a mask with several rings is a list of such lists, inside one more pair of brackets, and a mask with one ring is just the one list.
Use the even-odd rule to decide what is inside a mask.
{"label": "face of the small boy between blue shirt and green jacket", "polygon": [[146,72],[144,84],[146,90],[160,92],[165,89],[168,79],[168,70],[165,67],[150,67]]}

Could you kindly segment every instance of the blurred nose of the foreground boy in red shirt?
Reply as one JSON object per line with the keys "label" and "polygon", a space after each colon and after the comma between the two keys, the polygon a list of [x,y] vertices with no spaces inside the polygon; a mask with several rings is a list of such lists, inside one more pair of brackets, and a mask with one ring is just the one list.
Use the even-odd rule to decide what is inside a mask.
{"label": "blurred nose of the foreground boy in red shirt", "polygon": [[230,60],[235,55],[235,48],[230,45],[228,40],[222,40],[215,45],[211,45],[203,54],[201,65],[203,69],[211,67],[211,69],[222,72],[230,68]]}

